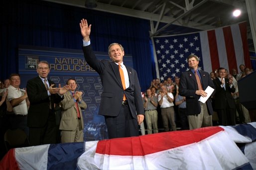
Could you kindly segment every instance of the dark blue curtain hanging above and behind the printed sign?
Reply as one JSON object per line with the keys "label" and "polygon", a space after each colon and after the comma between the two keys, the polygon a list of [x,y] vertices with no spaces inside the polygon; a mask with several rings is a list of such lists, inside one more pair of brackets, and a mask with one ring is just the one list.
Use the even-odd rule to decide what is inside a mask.
{"label": "dark blue curtain hanging above and behind the printed sign", "polygon": [[132,55],[142,91],[155,78],[148,20],[41,0],[4,0],[0,9],[0,79],[18,72],[19,45],[82,51],[82,18],[92,24],[95,51],[107,52],[109,44],[118,42]]}

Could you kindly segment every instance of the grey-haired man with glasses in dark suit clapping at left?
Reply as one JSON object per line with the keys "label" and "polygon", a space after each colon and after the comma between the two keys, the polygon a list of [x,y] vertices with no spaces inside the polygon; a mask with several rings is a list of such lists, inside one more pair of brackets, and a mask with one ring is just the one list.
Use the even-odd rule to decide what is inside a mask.
{"label": "grey-haired man with glasses in dark suit clapping at left", "polygon": [[38,76],[27,81],[27,97],[30,106],[27,114],[29,142],[31,146],[56,143],[56,120],[54,103],[63,100],[69,85],[55,87],[47,76],[50,72],[47,61],[40,61],[36,69]]}

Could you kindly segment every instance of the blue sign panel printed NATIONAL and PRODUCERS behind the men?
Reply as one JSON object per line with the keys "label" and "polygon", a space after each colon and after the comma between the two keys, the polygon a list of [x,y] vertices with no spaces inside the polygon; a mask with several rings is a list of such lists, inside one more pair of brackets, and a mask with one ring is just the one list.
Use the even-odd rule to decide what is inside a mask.
{"label": "blue sign panel printed NATIONAL and PRODUCERS behind the men", "polygon": [[[98,52],[96,55],[99,59],[110,59],[108,53]],[[19,46],[18,56],[20,88],[26,87],[29,79],[38,76],[38,61],[48,61],[48,79],[63,87],[68,79],[73,78],[77,82],[77,90],[83,92],[83,100],[87,104],[87,108],[82,111],[85,124],[84,141],[108,139],[104,117],[98,115],[103,91],[101,79],[85,61],[81,50]],[[132,67],[132,56],[126,55],[124,62]]]}

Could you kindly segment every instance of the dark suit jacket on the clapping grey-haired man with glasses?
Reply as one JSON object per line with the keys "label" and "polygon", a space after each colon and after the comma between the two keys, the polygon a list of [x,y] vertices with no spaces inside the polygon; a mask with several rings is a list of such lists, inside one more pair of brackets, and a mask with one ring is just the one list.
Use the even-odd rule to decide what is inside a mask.
{"label": "dark suit jacket on the clapping grey-haired man with glasses", "polygon": [[[55,84],[50,79],[48,79],[48,82],[49,85]],[[27,126],[42,128],[48,120],[50,99],[52,108],[54,108],[54,103],[59,103],[63,100],[63,97],[61,98],[58,94],[54,94],[49,98],[44,83],[39,76],[27,81],[26,90],[30,102],[27,115]]]}

